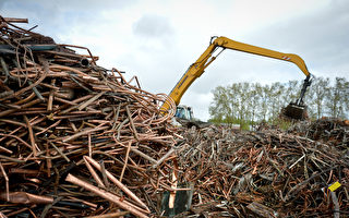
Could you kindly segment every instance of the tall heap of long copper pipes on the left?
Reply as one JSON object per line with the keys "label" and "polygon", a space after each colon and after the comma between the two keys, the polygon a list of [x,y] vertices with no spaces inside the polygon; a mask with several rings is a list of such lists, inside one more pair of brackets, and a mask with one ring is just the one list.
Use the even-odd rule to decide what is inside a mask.
{"label": "tall heap of long copper pipes on the left", "polygon": [[182,141],[166,96],[14,22],[0,17],[0,217],[159,214]]}

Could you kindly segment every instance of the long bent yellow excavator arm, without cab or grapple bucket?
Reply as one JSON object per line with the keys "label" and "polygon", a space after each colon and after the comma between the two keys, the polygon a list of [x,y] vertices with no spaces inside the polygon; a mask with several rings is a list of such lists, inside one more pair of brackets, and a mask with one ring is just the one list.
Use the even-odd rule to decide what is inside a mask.
{"label": "long bent yellow excavator arm, without cab or grapple bucket", "polygon": [[[274,51],[274,50],[269,50],[266,48],[261,48],[261,47],[239,43],[239,41],[231,40],[227,37],[221,36],[221,37],[213,37],[212,38],[212,41],[210,41],[209,46],[207,47],[207,49],[203,52],[203,55],[201,55],[201,57],[196,60],[196,62],[194,62],[193,64],[191,64],[189,66],[186,72],[182,75],[180,81],[176,84],[176,86],[173,87],[173,89],[169,94],[169,98],[171,98],[174,101],[176,106],[179,105],[183,94],[189,88],[189,86],[197,77],[200,77],[204,73],[204,70],[222,51],[221,50],[217,56],[214,57],[213,55],[218,48],[222,48],[222,50],[224,49],[232,49],[232,50],[243,51],[243,52],[248,52],[248,53],[264,56],[264,57],[279,59],[282,61],[289,61],[289,62],[294,63],[306,76],[306,78],[304,81],[304,84],[306,82],[306,85],[303,85],[304,90],[302,89],[301,97],[298,100],[299,102],[297,102],[298,105],[302,104],[302,98],[304,96],[306,87],[310,85],[309,80],[311,76],[302,58],[300,58],[299,56],[293,55],[293,53],[282,53],[279,51]],[[164,102],[164,105],[160,108],[161,111],[167,111],[169,109],[169,107],[170,107],[169,101],[170,101],[170,99],[168,99],[167,101]]]}

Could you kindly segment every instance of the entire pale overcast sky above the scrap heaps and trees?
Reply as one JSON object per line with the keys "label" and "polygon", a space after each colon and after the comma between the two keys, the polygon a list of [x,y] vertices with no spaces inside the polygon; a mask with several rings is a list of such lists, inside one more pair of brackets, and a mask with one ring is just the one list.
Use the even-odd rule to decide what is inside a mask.
{"label": "entire pale overcast sky above the scrap heaps and trees", "polygon": [[[0,14],[89,48],[99,65],[136,75],[155,94],[169,94],[212,36],[297,53],[315,76],[349,80],[348,0],[0,0]],[[292,63],[225,50],[181,104],[207,120],[218,85],[289,80],[304,80]]]}

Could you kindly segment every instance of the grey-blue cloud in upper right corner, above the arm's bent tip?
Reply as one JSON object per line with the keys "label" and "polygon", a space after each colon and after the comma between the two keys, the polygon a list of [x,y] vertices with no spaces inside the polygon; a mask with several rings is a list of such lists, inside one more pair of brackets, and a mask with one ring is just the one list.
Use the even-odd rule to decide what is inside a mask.
{"label": "grey-blue cloud in upper right corner, above the arm's bent tip", "polygon": [[349,66],[349,51],[345,49],[349,47],[348,8],[349,1],[332,1],[287,24],[278,23],[261,29],[255,39],[301,56],[309,70],[320,76],[346,76]]}

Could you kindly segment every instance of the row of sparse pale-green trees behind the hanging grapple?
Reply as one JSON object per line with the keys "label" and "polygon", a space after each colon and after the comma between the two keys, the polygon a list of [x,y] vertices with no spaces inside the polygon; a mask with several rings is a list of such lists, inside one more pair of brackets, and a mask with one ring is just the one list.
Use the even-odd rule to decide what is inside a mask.
{"label": "row of sparse pale-green trees behind the hanging grapple", "polygon": [[[303,81],[288,83],[233,83],[212,90],[212,122],[253,124],[278,120],[281,108],[299,98]],[[305,93],[304,102],[311,119],[348,117],[349,82],[345,77],[315,77]]]}

